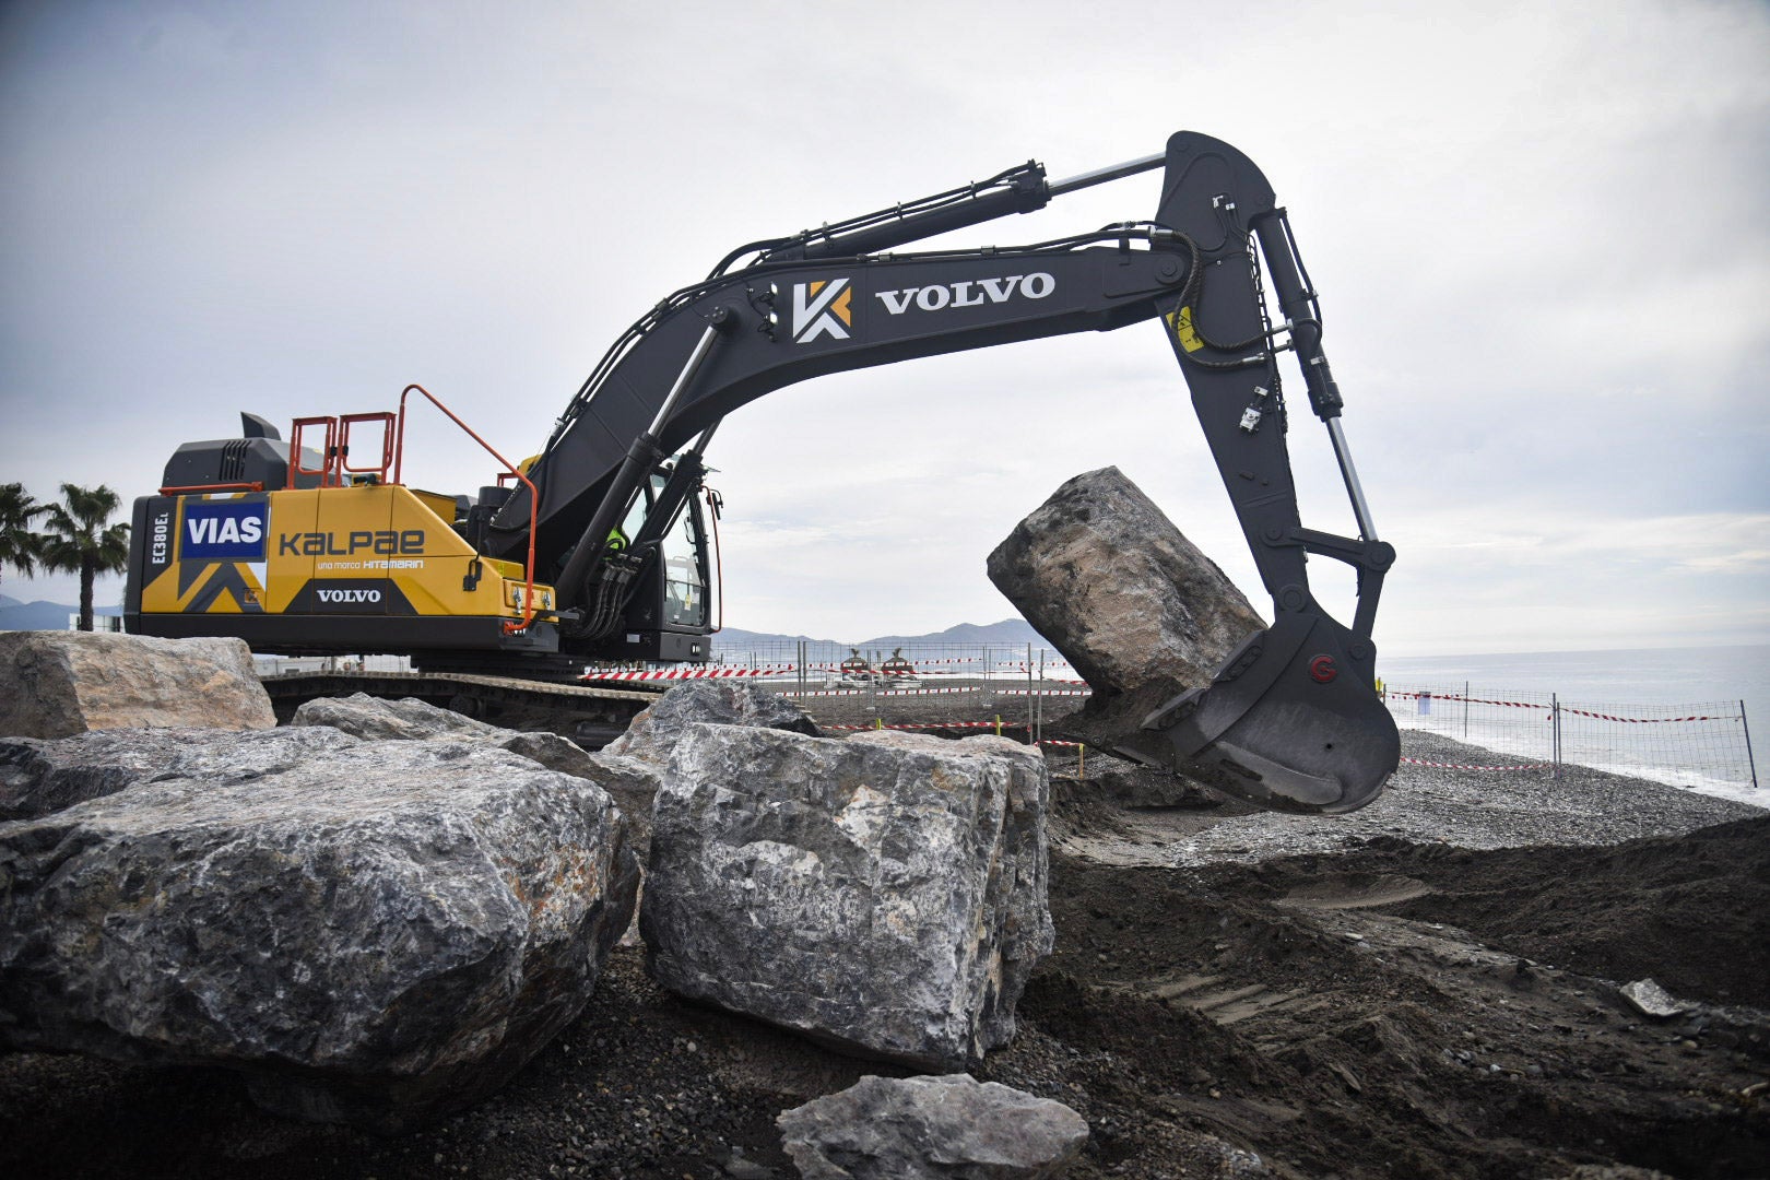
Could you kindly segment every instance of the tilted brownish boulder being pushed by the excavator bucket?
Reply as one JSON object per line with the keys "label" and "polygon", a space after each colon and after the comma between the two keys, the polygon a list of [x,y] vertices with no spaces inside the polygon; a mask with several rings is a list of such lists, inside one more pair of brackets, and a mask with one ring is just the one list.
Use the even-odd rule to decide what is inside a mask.
{"label": "tilted brownish boulder being pushed by the excavator bucket", "polygon": [[1057,488],[989,554],[988,568],[1094,688],[1062,724],[1090,747],[1135,748],[1149,713],[1211,683],[1230,651],[1266,626],[1117,467]]}

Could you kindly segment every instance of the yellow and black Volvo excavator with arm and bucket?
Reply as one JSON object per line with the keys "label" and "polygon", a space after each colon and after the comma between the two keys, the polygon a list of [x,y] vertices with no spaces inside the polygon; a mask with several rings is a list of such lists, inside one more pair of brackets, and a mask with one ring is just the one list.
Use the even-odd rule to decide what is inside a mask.
{"label": "yellow and black Volvo excavator with arm and bucket", "polygon": [[[1149,221],[1028,246],[899,249],[1158,168]],[[181,446],[159,492],[135,502],[126,626],[538,679],[577,679],[595,660],[706,660],[720,501],[704,456],[727,414],[823,373],[1143,320],[1174,347],[1273,624],[1211,685],[1152,713],[1138,757],[1158,748],[1264,807],[1361,807],[1400,757],[1372,644],[1395,550],[1377,540],[1347,449],[1287,212],[1253,161],[1189,131],[1069,179],[1028,161],[733,249],[609,347],[533,460],[512,465],[473,435],[501,467],[476,495],[402,481],[407,410],[421,405],[409,398],[453,418],[419,386],[398,412],[296,419],[289,441],[244,414],[239,439]],[[1356,538],[1301,524],[1283,352],[1326,425]],[[1312,554],[1356,570],[1351,624],[1315,601]]]}

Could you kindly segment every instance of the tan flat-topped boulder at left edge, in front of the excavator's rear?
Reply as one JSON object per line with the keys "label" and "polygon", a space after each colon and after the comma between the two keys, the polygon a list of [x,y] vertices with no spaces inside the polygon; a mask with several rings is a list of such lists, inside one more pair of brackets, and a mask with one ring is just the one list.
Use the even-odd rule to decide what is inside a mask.
{"label": "tan flat-topped boulder at left edge, in front of the excavator's rear", "polygon": [[150,725],[273,729],[276,713],[246,642],[0,632],[0,734]]}

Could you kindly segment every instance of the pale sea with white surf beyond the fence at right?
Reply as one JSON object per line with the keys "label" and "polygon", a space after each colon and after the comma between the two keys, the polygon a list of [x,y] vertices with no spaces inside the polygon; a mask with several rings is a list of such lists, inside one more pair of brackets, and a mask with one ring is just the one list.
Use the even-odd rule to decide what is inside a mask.
{"label": "pale sea with white surf beyond the fence at right", "polygon": [[1377,674],[1404,729],[1545,761],[1558,704],[1568,762],[1770,807],[1770,644],[1379,655]]}

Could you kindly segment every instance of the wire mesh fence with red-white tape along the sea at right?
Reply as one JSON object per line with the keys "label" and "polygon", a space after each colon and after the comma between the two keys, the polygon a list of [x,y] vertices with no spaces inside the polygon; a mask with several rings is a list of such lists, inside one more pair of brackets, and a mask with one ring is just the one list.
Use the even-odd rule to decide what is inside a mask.
{"label": "wire mesh fence with red-white tape along the sea at right", "polygon": [[1602,704],[1464,685],[1382,685],[1404,729],[1425,729],[1551,773],[1591,766],[1685,787],[1758,787],[1743,701]]}

